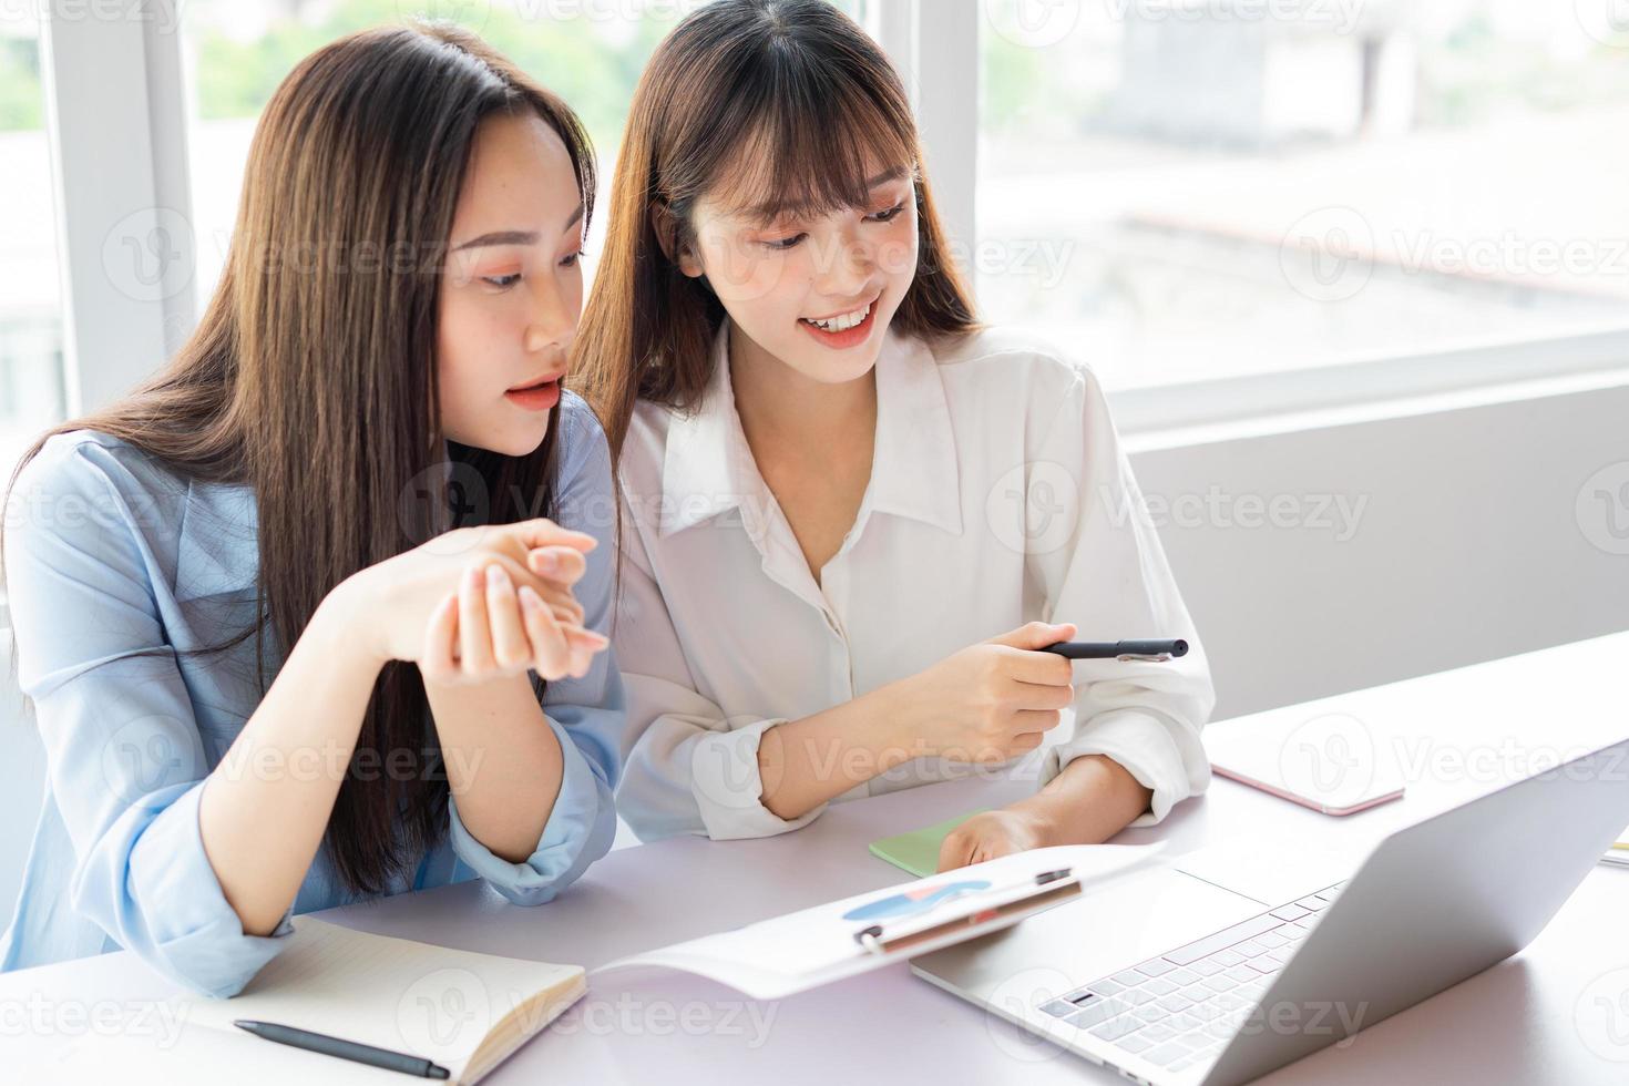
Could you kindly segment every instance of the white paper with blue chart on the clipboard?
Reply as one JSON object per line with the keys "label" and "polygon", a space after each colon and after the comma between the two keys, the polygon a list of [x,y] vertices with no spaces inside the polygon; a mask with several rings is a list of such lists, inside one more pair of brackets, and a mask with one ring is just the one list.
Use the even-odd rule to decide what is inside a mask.
{"label": "white paper with blue chart on the clipboard", "polygon": [[[929,939],[912,939],[907,952],[875,954],[867,951],[855,935],[873,923],[876,913],[863,907],[876,905],[899,896],[932,897],[955,882],[986,881],[992,889],[1033,879],[1043,871],[1072,868],[1082,884],[1108,879],[1129,871],[1160,855],[1163,843],[1155,845],[1059,845],[1034,848],[987,863],[945,871],[925,879],[901,882],[865,894],[844,897],[813,909],[787,913],[772,920],[746,925],[733,931],[674,943],[655,951],[619,957],[595,972],[632,967],[678,969],[725,983],[754,1000],[779,1000],[797,992],[818,988],[834,980],[878,969],[915,954],[927,954],[945,946],[997,931],[1034,915],[1051,904],[1023,910],[990,910],[992,918],[956,926],[953,931]],[[1012,897],[1012,896],[1005,896]],[[966,915],[990,902],[948,899],[945,917]],[[1056,902],[1052,902],[1056,904]],[[847,913],[857,913],[845,918]],[[919,920],[930,913],[920,912],[904,920]],[[920,926],[920,925],[912,925]]]}

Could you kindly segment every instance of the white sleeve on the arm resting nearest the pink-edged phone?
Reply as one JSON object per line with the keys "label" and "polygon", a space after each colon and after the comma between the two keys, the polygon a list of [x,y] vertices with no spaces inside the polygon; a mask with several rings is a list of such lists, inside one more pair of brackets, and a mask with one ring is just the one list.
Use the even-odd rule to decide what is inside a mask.
{"label": "white sleeve on the arm resting nearest the pink-edged phone", "polygon": [[1186,656],[1168,663],[1075,663],[1075,729],[1049,749],[1043,783],[1074,759],[1101,754],[1122,765],[1153,799],[1132,825],[1161,821],[1210,783],[1199,729],[1215,692],[1204,648],[1166,563],[1131,461],[1114,431],[1096,378],[1077,370],[1057,417],[1028,453],[1074,475],[1078,521],[1069,539],[1028,565],[1044,588],[1047,620],[1075,622],[1082,640],[1183,638]]}

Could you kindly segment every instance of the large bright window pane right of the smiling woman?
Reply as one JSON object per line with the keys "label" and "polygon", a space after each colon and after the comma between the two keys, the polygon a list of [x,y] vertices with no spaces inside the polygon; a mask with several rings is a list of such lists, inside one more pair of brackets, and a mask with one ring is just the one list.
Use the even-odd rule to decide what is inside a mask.
{"label": "large bright window pane right of the smiling woman", "polygon": [[1113,388],[1629,327],[1621,2],[981,7],[981,304]]}

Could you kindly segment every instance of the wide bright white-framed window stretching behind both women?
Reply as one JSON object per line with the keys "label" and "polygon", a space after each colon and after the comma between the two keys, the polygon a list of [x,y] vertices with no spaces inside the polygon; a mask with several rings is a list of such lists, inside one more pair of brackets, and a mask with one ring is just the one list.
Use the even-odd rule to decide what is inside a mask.
{"label": "wide bright white-framed window stretching behind both women", "polygon": [[[101,239],[122,213],[83,174],[124,164],[98,151],[111,137],[151,150],[155,207],[191,200],[202,301],[277,83],[336,36],[411,15],[464,21],[559,91],[609,182],[643,62],[704,2],[189,0],[179,36],[148,28],[145,42],[111,24],[54,24],[64,85],[94,85],[108,106],[77,103],[64,145],[81,163],[64,257],[75,290],[106,280]],[[1629,153],[1618,138],[1624,0],[841,7],[917,96],[942,208],[956,241],[974,241],[961,252],[984,314],[1077,350],[1122,410],[1148,409],[1148,425],[1173,425],[1178,401],[1214,414],[1199,401],[1218,402],[1217,389],[1192,384],[1210,378],[1238,392],[1232,415],[1253,415],[1318,405],[1337,388],[1339,402],[1357,402],[1541,376],[1557,360],[1572,371],[1629,361],[1629,212],[1613,184]],[[70,34],[77,47],[64,50]],[[64,342],[77,347],[68,389],[117,389],[191,321],[191,306],[166,301],[160,337],[151,313],[103,290],[64,335],[46,137],[29,106],[36,37],[18,20],[0,31],[0,140],[18,164],[0,181],[16,192],[16,231],[0,246],[0,453],[62,415]],[[119,109],[143,93],[150,109]],[[189,192],[174,177],[191,177]],[[75,195],[90,213],[72,212]],[[590,275],[604,215],[595,226]],[[1337,379],[1329,363],[1349,360],[1380,365]]]}

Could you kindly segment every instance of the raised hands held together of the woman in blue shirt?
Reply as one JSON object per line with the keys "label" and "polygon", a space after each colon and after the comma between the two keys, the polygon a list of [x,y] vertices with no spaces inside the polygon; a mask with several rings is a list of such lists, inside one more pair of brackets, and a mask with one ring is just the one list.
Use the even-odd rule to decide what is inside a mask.
{"label": "raised hands held together of the woman in blue shirt", "polygon": [[608,645],[582,627],[572,596],[586,570],[583,555],[596,545],[593,536],[544,518],[459,528],[362,570],[342,588],[380,661],[417,663],[437,682],[533,668],[559,679],[585,672]]}

